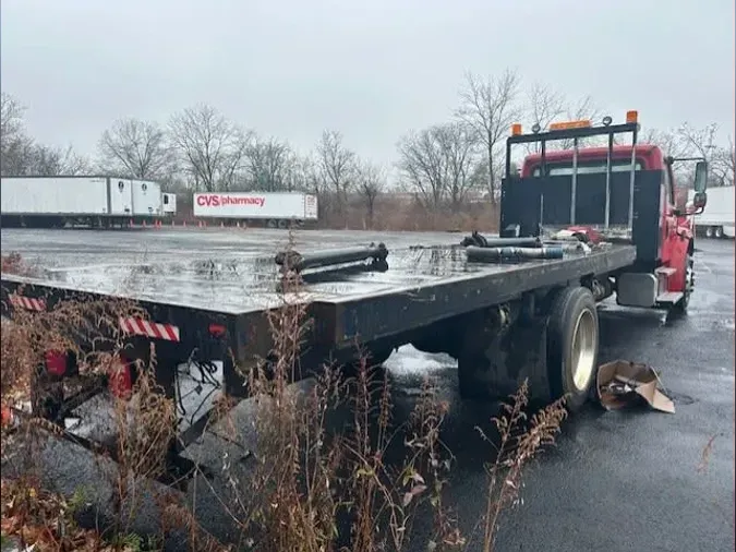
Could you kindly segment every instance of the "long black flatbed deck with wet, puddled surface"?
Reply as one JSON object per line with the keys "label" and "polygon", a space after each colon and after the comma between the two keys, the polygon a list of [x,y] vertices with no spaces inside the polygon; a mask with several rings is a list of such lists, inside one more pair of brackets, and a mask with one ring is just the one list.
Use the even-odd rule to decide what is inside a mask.
{"label": "long black flatbed deck with wet, puddled surface", "polygon": [[[333,248],[345,247],[346,233],[339,233],[339,243],[319,239],[318,233],[298,237],[297,245],[302,253],[329,249],[325,242]],[[261,233],[262,238],[266,236]],[[282,245],[283,232],[277,236]],[[345,349],[354,347],[357,339],[367,344],[397,336],[512,300],[527,291],[565,285],[586,275],[613,273],[636,260],[634,247],[606,244],[588,254],[566,252],[560,260],[478,263],[468,261],[464,249],[457,245],[457,235],[425,238],[432,247],[421,245],[421,235],[385,237],[397,238],[401,245],[396,248],[386,241],[389,254],[385,272],[323,268],[306,276],[299,299],[311,303],[310,315],[317,321],[311,334],[312,346],[321,350]],[[249,238],[253,240],[253,235]],[[360,244],[359,238],[352,235],[351,244]],[[23,285],[28,286],[24,293],[31,297],[92,293],[132,299],[149,312],[152,321],[177,325],[182,344],[200,339],[203,321],[227,325],[236,358],[242,361],[268,352],[265,341],[254,333],[267,332],[264,310],[283,300],[276,292],[279,278],[274,252],[278,245],[272,238],[270,242],[261,239],[250,249],[238,250],[228,244],[227,251],[210,247],[192,255],[182,250],[172,255],[169,250],[143,260],[137,253],[137,262],[131,262],[131,252],[124,250],[123,262],[93,254],[86,259],[96,262],[43,267],[40,277],[3,274],[3,300],[13,288]],[[125,263],[125,256],[131,261]]]}

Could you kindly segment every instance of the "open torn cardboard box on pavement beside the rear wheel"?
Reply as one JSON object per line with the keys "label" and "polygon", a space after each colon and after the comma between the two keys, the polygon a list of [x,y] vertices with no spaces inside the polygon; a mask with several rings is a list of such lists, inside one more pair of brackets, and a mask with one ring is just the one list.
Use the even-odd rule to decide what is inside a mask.
{"label": "open torn cardboard box on pavement beside the rear wheel", "polygon": [[653,368],[616,360],[607,362],[598,371],[598,398],[606,410],[648,404],[654,410],[675,413],[675,404],[667,397],[659,385],[660,376]]}

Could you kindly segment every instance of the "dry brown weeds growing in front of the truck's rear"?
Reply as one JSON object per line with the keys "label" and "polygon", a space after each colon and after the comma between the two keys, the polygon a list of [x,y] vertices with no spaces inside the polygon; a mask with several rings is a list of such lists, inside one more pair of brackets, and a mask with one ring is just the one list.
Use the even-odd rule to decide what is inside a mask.
{"label": "dry brown weeds growing in front of the truck's rear", "polygon": [[[210,492],[220,494],[219,505],[237,528],[237,537],[219,542],[204,529],[197,517],[196,493],[190,505],[173,492],[159,493],[161,535],[153,536],[147,545],[154,547],[177,529],[188,535],[193,551],[229,547],[266,552],[398,552],[410,547],[463,550],[476,533],[482,533],[483,549],[493,550],[503,514],[519,503],[523,470],[554,442],[565,418],[563,401],[528,418],[524,384],[494,419],[499,433],[499,440],[494,441],[498,454],[487,466],[487,501],[475,526],[482,530],[463,536],[448,504],[455,457],[442,434],[449,406],[438,399],[435,382],[429,377],[424,381],[413,411],[402,419],[395,416],[389,374],[372,365],[365,351],[355,351],[355,365],[349,371],[352,376],[347,376],[342,367],[328,363],[316,371],[310,385],[290,385],[302,370],[315,368],[300,365],[310,322],[297,274],[287,271],[279,298],[279,307],[266,313],[273,350],[248,371],[241,367],[255,403],[254,459],[248,469],[242,469],[233,458],[224,456],[222,471],[217,475],[221,484],[205,477],[195,478],[196,484],[209,485]],[[125,346],[117,324],[121,314],[146,316],[135,304],[119,301],[60,302],[49,312],[14,314],[12,323],[3,323],[2,404],[17,406],[31,400],[32,389],[44,379],[37,367],[49,349],[73,351],[79,358],[80,375],[109,372],[116,352]],[[93,344],[102,343],[107,352],[91,352]],[[149,361],[137,367],[140,375],[131,396],[111,399],[118,470],[111,477],[114,496],[108,506],[114,523],[108,524],[106,531],[98,531],[98,548],[89,550],[106,545],[117,550],[145,548],[143,539],[131,537],[135,503],[142,493],[140,482],[166,470],[176,431],[174,405],[154,381],[155,363],[153,348]],[[41,383],[46,387],[61,385]],[[36,405],[41,403],[35,400]],[[237,437],[243,429],[228,419],[224,405],[232,406],[232,400],[226,397],[220,404],[220,427]],[[37,440],[38,428],[48,435],[48,425],[53,424],[29,417],[12,431],[3,429],[3,461],[15,444]],[[490,440],[483,432],[481,439]],[[37,459],[36,454],[28,454],[23,463],[25,473],[34,473],[33,479],[20,473],[3,483],[3,518],[8,515],[14,519],[12,526],[3,526],[3,531],[23,532],[31,514],[17,517],[20,500],[27,505],[24,512],[53,518],[57,526],[69,518],[28,501],[29,489],[35,490],[36,496],[41,493],[40,479],[34,471]],[[53,496],[44,504],[57,504],[58,511],[65,512],[65,500]],[[432,520],[429,531],[415,527],[420,518]],[[472,526],[472,521],[463,521],[463,526]]]}

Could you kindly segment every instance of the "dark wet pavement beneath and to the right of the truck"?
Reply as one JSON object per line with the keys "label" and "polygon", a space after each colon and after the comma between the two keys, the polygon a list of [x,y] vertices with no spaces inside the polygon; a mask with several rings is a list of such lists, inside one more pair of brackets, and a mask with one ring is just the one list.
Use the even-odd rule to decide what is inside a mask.
{"label": "dark wet pavement beneath and to the right of the truck", "polygon": [[[523,504],[504,517],[497,550],[734,550],[734,242],[702,240],[698,249],[687,316],[663,323],[652,311],[601,310],[600,360],[657,369],[676,413],[591,405],[569,419],[557,445],[527,472]],[[406,403],[427,369],[450,400],[450,503],[470,535],[484,507],[483,463],[492,457],[474,427],[490,427],[495,407],[459,400],[450,359],[402,353],[388,365]],[[480,549],[476,535],[470,550]]]}

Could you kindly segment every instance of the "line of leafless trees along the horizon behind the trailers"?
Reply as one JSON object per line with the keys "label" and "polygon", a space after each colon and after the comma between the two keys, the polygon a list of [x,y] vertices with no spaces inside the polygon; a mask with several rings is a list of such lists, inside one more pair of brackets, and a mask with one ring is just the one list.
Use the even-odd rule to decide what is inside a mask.
{"label": "line of leafless trees along the horizon behind the trailers", "polygon": [[[101,133],[95,155],[85,156],[71,147],[39,144],[25,129],[24,111],[17,98],[2,93],[2,175],[99,172],[158,180],[170,190],[309,191],[336,212],[358,196],[369,217],[376,197],[389,188],[389,167],[360,156],[338,130],[325,130],[311,152],[300,153],[285,140],[258,135],[215,107],[198,104],[167,121],[116,120]],[[430,211],[459,208],[479,193],[493,203],[511,123],[544,129],[556,120],[598,122],[603,115],[592,98],[571,100],[540,82],[524,86],[514,70],[487,77],[467,73],[447,121],[398,139],[398,181],[390,188],[413,194]],[[733,185],[733,136],[716,143],[717,130],[715,122],[704,128],[683,123],[671,130],[644,129],[639,141],[659,144],[674,156],[705,157],[711,184]]]}

